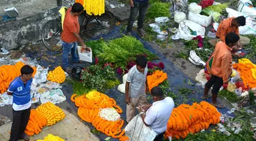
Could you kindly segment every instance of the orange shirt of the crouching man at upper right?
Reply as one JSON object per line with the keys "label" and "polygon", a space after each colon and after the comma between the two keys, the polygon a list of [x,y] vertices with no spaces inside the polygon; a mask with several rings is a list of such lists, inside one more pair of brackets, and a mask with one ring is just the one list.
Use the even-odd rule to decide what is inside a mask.
{"label": "orange shirt of the crouching man at upper right", "polygon": [[223,22],[221,22],[221,24],[218,26],[216,37],[220,38],[223,42],[225,42],[227,33],[236,33],[239,35],[239,28],[236,26],[231,26],[233,18],[234,17],[223,20]]}

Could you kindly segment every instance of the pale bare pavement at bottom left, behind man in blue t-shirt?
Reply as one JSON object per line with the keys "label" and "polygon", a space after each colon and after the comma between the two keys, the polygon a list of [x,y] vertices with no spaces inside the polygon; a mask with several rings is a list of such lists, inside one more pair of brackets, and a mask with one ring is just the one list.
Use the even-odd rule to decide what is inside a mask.
{"label": "pale bare pavement at bottom left, behind man in blue t-shirt", "polygon": [[[63,110],[63,109],[62,109]],[[66,114],[65,119],[56,123],[55,125],[44,127],[42,132],[38,135],[30,137],[31,141],[42,140],[48,134],[59,136],[66,141],[98,141],[99,139],[91,134],[89,127],[81,123],[77,117],[72,115],[66,110],[63,110]],[[10,138],[10,130],[12,123],[8,123],[0,126],[0,141],[8,141]]]}

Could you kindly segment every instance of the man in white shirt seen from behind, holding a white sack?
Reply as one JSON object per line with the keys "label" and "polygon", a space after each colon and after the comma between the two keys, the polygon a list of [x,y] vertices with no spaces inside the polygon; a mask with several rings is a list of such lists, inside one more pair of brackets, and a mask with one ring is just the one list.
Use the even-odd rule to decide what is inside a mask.
{"label": "man in white shirt seen from behind, holding a white sack", "polygon": [[154,141],[163,141],[165,131],[167,130],[167,123],[173,111],[174,102],[170,97],[165,98],[160,87],[153,87],[151,96],[154,101],[153,104],[140,106],[139,112],[144,113],[141,115],[143,123],[146,126],[152,127],[156,134],[158,134]]}

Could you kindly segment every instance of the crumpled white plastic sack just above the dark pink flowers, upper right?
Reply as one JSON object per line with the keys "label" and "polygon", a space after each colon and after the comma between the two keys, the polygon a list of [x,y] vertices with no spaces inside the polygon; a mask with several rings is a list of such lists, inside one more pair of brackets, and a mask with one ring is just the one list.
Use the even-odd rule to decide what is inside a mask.
{"label": "crumpled white plastic sack just above the dark pink flowers, upper right", "polygon": [[[195,31],[197,33],[197,35],[192,35],[190,32],[190,29],[192,31]],[[180,22],[180,24],[179,24],[179,30],[177,31],[177,35],[181,39],[185,39],[185,40],[191,40],[194,37],[197,37],[198,35],[200,35],[202,38],[204,38],[205,28],[203,26],[201,26],[200,24],[197,24],[190,20],[184,20],[184,21]]]}

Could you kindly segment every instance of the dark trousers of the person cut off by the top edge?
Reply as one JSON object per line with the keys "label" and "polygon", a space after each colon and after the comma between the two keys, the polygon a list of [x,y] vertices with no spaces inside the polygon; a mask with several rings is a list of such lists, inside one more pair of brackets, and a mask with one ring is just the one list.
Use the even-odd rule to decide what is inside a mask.
{"label": "dark trousers of the person cut off by the top edge", "polygon": [[127,26],[127,32],[131,32],[132,31],[132,25],[133,22],[137,16],[137,13],[139,12],[139,20],[138,20],[138,28],[141,29],[143,28],[143,22],[145,19],[145,15],[147,12],[147,7],[149,5],[149,2],[145,2],[145,3],[136,3],[134,2],[134,7],[130,7],[130,17],[128,20],[128,26]]}

